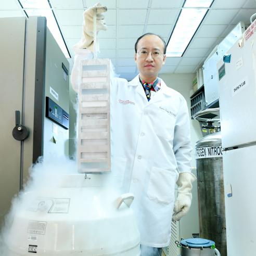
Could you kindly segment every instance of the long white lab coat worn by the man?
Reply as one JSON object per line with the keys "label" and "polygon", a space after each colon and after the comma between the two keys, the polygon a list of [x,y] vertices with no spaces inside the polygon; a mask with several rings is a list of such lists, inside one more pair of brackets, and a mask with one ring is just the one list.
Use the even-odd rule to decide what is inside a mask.
{"label": "long white lab coat worn by the man", "polygon": [[124,193],[135,196],[141,243],[168,246],[179,172],[190,172],[186,100],[161,80],[147,100],[136,76],[111,85],[111,170]]}

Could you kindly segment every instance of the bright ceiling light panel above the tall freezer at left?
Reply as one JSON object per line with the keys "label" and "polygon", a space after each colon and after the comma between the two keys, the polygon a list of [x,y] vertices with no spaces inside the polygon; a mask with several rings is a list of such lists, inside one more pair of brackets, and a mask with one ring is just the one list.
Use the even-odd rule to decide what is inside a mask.
{"label": "bright ceiling light panel above the tall freezer at left", "polygon": [[49,31],[53,34],[54,39],[58,43],[62,53],[66,56],[66,58],[70,58],[68,49],[66,47],[65,42],[63,41],[62,35],[60,33],[58,24],[54,17],[53,11],[49,6],[47,0],[20,0],[20,3],[23,6],[25,12],[27,12],[28,16],[42,16],[46,17],[47,27]]}

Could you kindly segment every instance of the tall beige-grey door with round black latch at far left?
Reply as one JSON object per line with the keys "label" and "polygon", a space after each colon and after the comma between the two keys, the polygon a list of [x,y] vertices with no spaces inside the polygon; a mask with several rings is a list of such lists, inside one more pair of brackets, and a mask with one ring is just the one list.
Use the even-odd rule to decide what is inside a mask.
{"label": "tall beige-grey door with round black latch at far left", "polygon": [[[4,19],[4,20],[3,20]],[[1,133],[0,133],[0,225],[11,198],[20,189],[22,143],[12,137],[15,111],[22,117],[25,18],[0,19],[1,34]],[[16,74],[16,75],[14,75]]]}

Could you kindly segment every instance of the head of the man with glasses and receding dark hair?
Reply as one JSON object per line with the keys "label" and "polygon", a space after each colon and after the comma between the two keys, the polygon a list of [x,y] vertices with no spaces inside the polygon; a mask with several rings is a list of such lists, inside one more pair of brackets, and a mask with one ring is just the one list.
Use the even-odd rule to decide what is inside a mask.
{"label": "head of the man with glasses and receding dark hair", "polygon": [[[164,45],[162,40],[156,35],[146,35],[139,40],[137,44],[137,54],[135,54],[135,62],[143,79],[154,79],[158,75],[159,70],[165,63],[166,56],[163,54]],[[148,52],[148,55],[139,54]],[[153,57],[152,53],[160,51],[161,55]],[[144,55],[144,56],[143,56]]]}

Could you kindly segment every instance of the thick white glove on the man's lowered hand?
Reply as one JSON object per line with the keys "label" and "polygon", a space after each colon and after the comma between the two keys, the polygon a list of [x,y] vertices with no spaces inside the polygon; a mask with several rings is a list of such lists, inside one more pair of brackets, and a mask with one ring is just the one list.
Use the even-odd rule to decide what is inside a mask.
{"label": "thick white glove on the man's lowered hand", "polygon": [[173,221],[179,221],[189,210],[192,200],[192,183],[196,176],[190,172],[181,172],[178,175],[176,184],[178,185],[177,199],[174,203]]}

